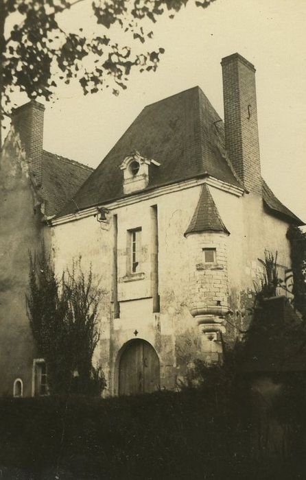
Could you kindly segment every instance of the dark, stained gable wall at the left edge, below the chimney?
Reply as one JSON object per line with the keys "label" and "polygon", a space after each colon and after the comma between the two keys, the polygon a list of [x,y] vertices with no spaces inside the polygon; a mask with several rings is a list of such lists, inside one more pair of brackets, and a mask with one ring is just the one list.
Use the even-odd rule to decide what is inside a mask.
{"label": "dark, stained gable wall at the left edge, below the chimney", "polygon": [[25,310],[29,252],[40,248],[43,235],[38,198],[19,136],[10,132],[0,164],[0,394],[13,394],[14,380],[32,394],[35,357]]}

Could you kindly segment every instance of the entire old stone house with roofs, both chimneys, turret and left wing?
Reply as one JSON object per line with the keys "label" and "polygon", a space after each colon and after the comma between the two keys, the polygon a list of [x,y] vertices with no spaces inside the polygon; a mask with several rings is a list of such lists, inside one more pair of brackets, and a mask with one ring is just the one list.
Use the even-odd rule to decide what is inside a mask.
{"label": "entire old stone house with roofs, both chimneys, turret and left wing", "polygon": [[290,269],[287,228],[303,223],[261,177],[255,68],[235,53],[222,74],[224,122],[190,88],[146,106],[92,172],[43,152],[42,120],[28,123],[39,104],[15,112],[24,149],[10,134],[1,167],[3,392],[20,379],[25,395],[43,393],[23,302],[25,251],[41,235],[56,273],[81,255],[99,279],[95,361],[112,395],[173,389],[194,359],[222,361],[223,342],[250,320],[258,259],[277,250],[280,276]]}

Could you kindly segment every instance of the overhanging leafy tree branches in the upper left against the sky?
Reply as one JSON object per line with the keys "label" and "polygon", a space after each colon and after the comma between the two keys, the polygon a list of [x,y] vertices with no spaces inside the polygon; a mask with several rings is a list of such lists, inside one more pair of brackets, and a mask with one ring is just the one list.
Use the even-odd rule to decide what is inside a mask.
{"label": "overhanging leafy tree branches in the upper left against the sky", "polygon": [[[155,23],[166,11],[172,18],[187,1],[93,0],[93,16],[102,33],[89,37],[82,24],[69,32],[61,22],[64,12],[86,0],[0,0],[1,117],[9,111],[14,91],[49,100],[58,80],[69,84],[77,78],[84,94],[112,85],[117,95],[119,87],[126,88],[132,69],[155,71],[164,50],[119,45],[110,28],[122,29],[132,45],[133,40],[143,44],[153,36],[147,19]],[[213,1],[196,5],[206,8]]]}

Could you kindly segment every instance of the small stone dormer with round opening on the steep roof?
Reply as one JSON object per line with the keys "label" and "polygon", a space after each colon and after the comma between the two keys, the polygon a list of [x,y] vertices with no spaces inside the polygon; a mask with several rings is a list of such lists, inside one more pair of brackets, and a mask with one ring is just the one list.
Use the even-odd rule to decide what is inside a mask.
{"label": "small stone dormer with round opening on the steep roof", "polygon": [[141,156],[137,150],[124,158],[120,169],[123,170],[123,193],[125,195],[148,187],[151,165],[159,167],[161,164],[156,160]]}

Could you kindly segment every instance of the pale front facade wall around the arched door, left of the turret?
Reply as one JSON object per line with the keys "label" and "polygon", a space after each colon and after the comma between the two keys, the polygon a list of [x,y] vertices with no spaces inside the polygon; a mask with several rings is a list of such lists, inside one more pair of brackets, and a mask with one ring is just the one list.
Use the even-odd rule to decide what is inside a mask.
{"label": "pale front facade wall around the arched door, left of the turret", "polygon": [[[156,349],[161,362],[162,387],[174,387],[176,357],[189,355],[188,348],[178,342],[176,356],[174,332],[177,337],[183,331],[195,329],[189,313],[189,248],[184,232],[190,221],[193,204],[198,202],[200,189],[164,195],[153,200],[137,202],[130,206],[114,208],[110,213],[110,224],[99,224],[95,217],[80,219],[53,228],[54,264],[60,273],[72,259],[82,255],[84,267],[93,265],[93,272],[101,276],[106,295],[102,300],[102,338],[100,341],[101,363],[109,375],[110,391],[117,392],[116,365],[120,348],[127,341],[142,338]],[[158,293],[161,301],[160,313],[153,313],[152,302],[152,206],[158,211]],[[112,273],[113,273],[113,215],[118,224],[118,299],[120,317],[113,319]],[[129,276],[127,272],[127,230],[142,228],[141,232],[141,275]],[[185,272],[185,282],[178,279]],[[154,277],[154,276],[153,276]],[[134,332],[137,331],[137,335]],[[193,335],[194,337],[194,335]],[[111,338],[111,341],[109,341]],[[187,342],[188,343],[188,342]],[[190,350],[190,348],[189,348]]]}

